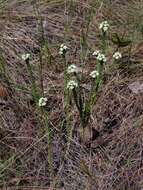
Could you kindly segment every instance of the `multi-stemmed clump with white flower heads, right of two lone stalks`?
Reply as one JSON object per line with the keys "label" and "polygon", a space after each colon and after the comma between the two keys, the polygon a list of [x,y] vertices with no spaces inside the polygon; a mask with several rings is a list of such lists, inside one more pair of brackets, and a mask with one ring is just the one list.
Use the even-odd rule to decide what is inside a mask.
{"label": "multi-stemmed clump with white flower heads, right of two lone stalks", "polygon": [[[110,28],[110,25],[107,21],[103,21],[99,25],[99,29],[101,30],[101,36],[102,36],[102,49],[101,50],[95,50],[92,53],[92,56],[96,60],[96,68],[90,72],[91,77],[91,89],[89,94],[87,95],[87,99],[84,97],[82,87],[81,87],[81,77],[79,75],[80,68],[76,65],[72,64],[67,66],[65,65],[64,70],[64,81],[66,88],[64,87],[65,91],[67,92],[67,95],[69,95],[69,99],[73,97],[73,100],[75,102],[76,108],[79,112],[80,116],[80,123],[83,128],[88,125],[90,115],[92,112],[92,108],[96,103],[97,100],[97,94],[100,89],[101,83],[102,83],[102,77],[104,74],[104,66],[107,62],[107,57],[105,56],[105,52],[107,49],[107,32]],[[67,51],[67,46],[62,44],[60,46],[59,54],[62,55],[63,59],[65,59],[65,54]],[[121,59],[122,55],[120,52],[115,52],[113,55],[114,61],[117,61]],[[68,76],[68,77],[67,77]]]}

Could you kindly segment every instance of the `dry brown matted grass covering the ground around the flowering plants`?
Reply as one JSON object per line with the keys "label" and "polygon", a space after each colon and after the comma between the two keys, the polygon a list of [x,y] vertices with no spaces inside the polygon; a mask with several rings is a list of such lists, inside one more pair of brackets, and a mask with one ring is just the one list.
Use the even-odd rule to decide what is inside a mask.
{"label": "dry brown matted grass covering the ground around the flowering plants", "polygon": [[[48,190],[52,189],[53,182],[58,182],[55,189],[141,190],[143,98],[142,93],[131,92],[128,85],[143,81],[143,1],[41,0],[37,4],[52,54],[51,62],[49,57],[43,58],[43,79],[52,131],[54,173],[52,177],[49,175],[47,133],[37,126],[27,68],[20,59],[22,53],[31,53],[35,81],[40,88],[38,53],[41,44],[34,1],[0,1],[0,47],[10,77],[9,84],[0,73],[0,83],[8,91],[6,97],[0,97],[1,189]],[[128,48],[123,48],[122,64],[114,70],[106,70],[90,120],[100,136],[90,142],[91,148],[80,143],[76,136],[79,118],[74,109],[72,128],[75,132],[64,155],[66,143],[60,132],[64,118],[63,66],[57,52],[59,44],[67,39],[71,47],[69,63],[81,63],[80,40],[92,8],[94,14],[87,38],[89,49],[100,46],[98,24],[108,19],[112,32],[132,38],[131,55],[128,56]],[[112,44],[109,55],[113,48]],[[89,73],[93,65],[94,60],[87,56],[85,73]],[[88,76],[85,81],[88,88]]]}

